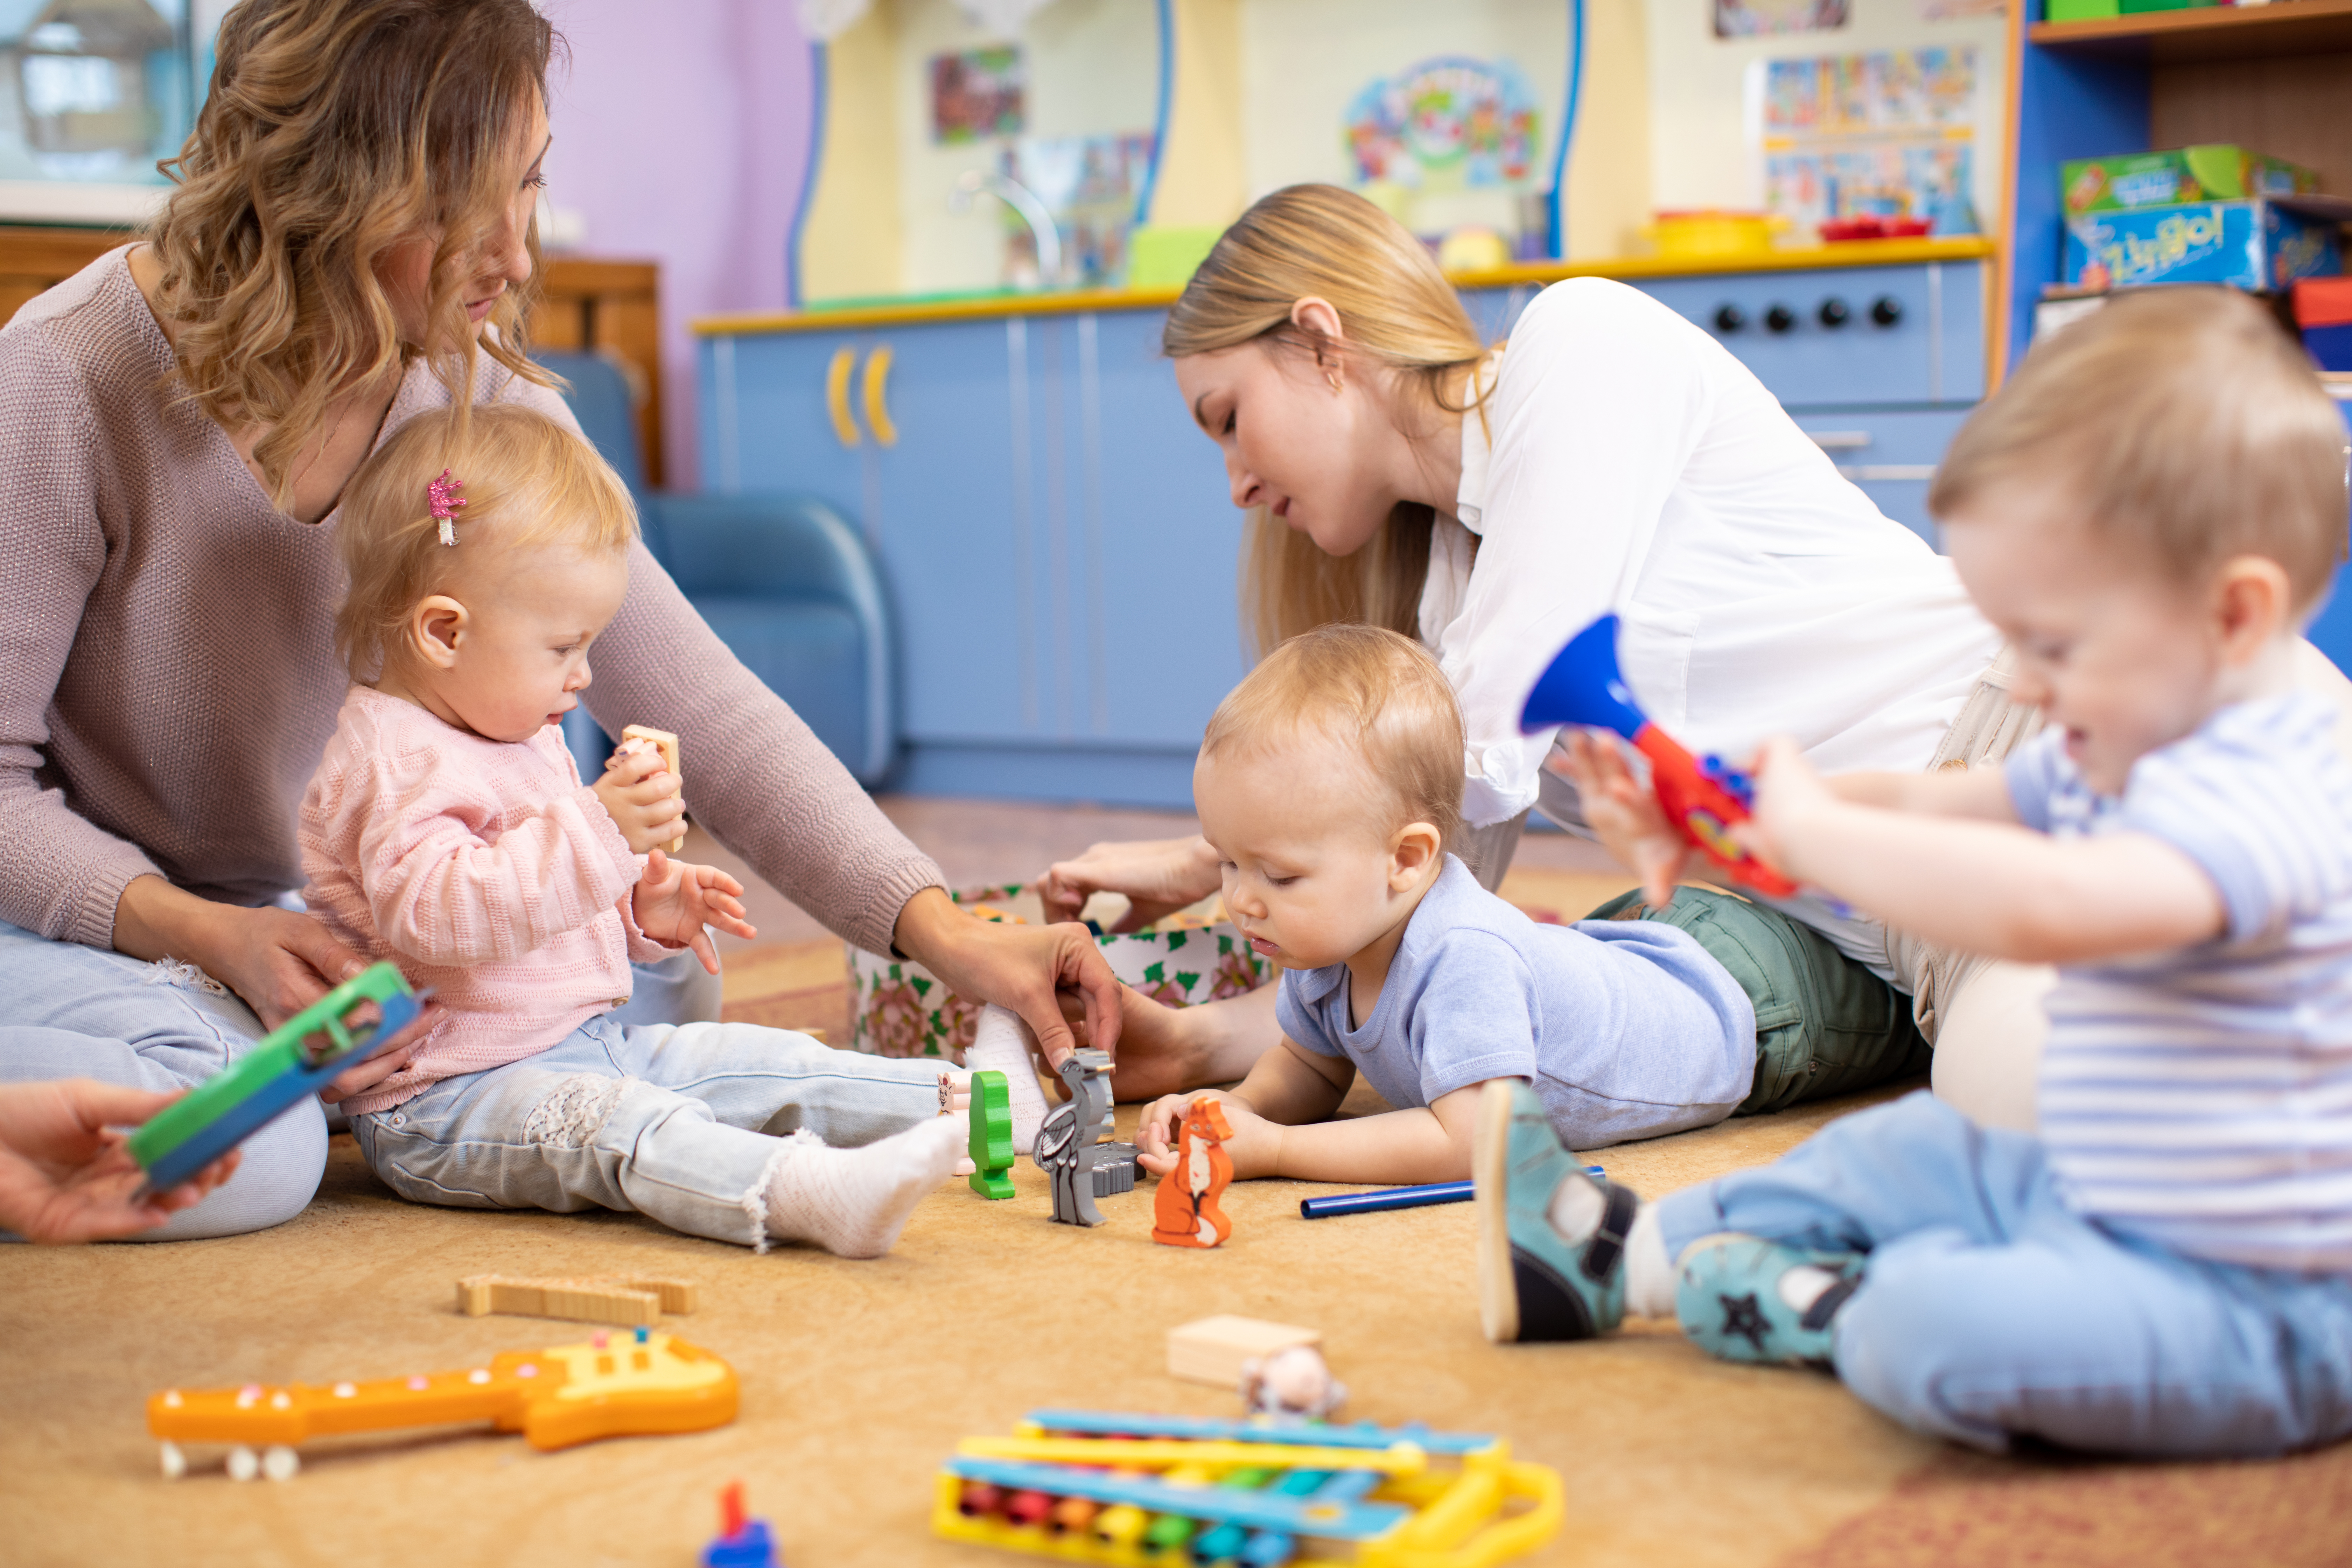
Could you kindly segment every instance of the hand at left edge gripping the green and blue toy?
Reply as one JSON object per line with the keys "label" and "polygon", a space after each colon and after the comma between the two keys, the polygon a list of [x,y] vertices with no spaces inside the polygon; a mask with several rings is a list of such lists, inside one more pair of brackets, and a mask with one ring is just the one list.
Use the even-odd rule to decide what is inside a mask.
{"label": "hand at left edge gripping the green and blue toy", "polygon": [[0,1084],[0,1227],[26,1241],[106,1241],[202,1201],[235,1173],[235,1150],[195,1180],[141,1197],[146,1173],[118,1131],[176,1098],[92,1079]]}

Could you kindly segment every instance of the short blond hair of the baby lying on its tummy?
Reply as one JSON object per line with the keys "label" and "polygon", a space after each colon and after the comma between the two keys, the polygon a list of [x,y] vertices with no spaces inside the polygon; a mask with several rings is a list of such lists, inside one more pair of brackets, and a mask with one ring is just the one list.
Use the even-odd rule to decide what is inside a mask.
{"label": "short blond hair of the baby lying on its tummy", "polygon": [[1390,797],[1383,832],[1430,823],[1444,849],[1461,839],[1463,710],[1437,658],[1404,632],[1345,621],[1298,632],[1218,703],[1200,755],[1277,755],[1301,733],[1357,748]]}

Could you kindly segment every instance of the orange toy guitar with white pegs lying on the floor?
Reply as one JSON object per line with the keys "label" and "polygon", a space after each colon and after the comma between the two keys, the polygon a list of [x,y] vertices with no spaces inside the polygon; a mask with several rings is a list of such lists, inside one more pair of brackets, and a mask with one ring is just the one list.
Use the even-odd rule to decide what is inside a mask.
{"label": "orange toy guitar with white pegs lying on the floor", "polygon": [[[343,1432],[442,1427],[487,1420],[532,1448],[569,1448],[600,1436],[652,1436],[724,1427],[736,1413],[734,1368],[666,1333],[640,1328],[614,1342],[515,1349],[463,1373],[374,1382],[289,1382],[242,1389],[165,1389],[148,1399],[148,1432],[162,1439],[162,1474],[188,1469],[181,1443],[235,1443],[228,1474],[287,1481],[301,1469],[294,1443]],[[256,1465],[254,1443],[268,1450]]]}

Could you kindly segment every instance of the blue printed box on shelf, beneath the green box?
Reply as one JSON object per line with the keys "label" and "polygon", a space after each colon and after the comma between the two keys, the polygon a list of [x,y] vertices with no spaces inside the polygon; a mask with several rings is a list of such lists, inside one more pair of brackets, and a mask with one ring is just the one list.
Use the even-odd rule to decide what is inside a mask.
{"label": "blue printed box on shelf, beneath the green box", "polygon": [[2084,289],[2152,282],[2220,282],[2286,289],[2298,277],[2343,270],[2336,226],[2352,202],[2296,195],[2086,212],[2065,223],[2065,280]]}

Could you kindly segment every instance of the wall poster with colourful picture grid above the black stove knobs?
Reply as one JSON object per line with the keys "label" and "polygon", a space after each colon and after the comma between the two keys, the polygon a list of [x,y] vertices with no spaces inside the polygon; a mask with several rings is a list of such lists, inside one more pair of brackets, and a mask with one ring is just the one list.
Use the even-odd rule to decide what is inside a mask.
{"label": "wall poster with colourful picture grid above the black stove knobs", "polygon": [[1973,233],[1976,49],[1759,61],[1764,205],[1797,223],[1922,216]]}

